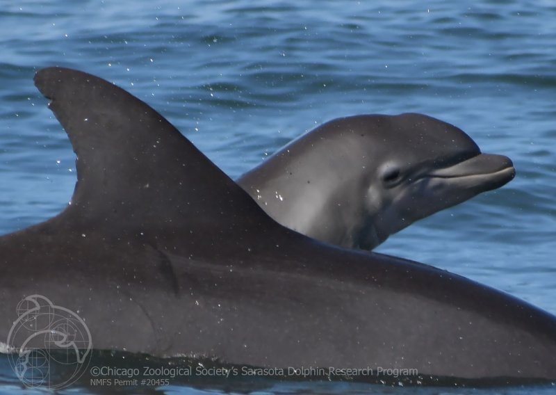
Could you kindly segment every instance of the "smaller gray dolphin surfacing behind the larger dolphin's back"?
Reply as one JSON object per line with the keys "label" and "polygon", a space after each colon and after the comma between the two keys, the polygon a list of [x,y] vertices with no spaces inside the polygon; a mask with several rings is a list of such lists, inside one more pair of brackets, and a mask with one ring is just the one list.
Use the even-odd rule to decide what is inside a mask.
{"label": "smaller gray dolphin surfacing behind the larger dolphin's back", "polygon": [[282,225],[325,243],[373,249],[436,211],[514,177],[464,131],[420,114],[332,120],[237,182]]}

